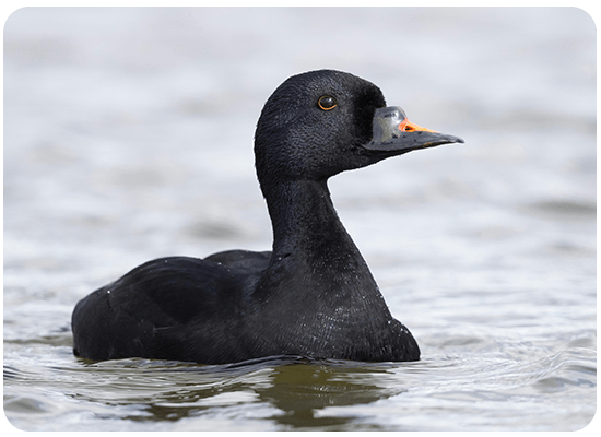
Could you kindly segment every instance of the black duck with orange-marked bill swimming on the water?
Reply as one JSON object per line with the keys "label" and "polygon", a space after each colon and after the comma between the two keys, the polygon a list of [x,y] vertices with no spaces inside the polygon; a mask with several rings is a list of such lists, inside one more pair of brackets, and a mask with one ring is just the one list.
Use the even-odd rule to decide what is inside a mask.
{"label": "black duck with orange-marked bill swimming on the water", "polygon": [[273,231],[270,251],[167,257],[81,299],[73,353],[217,365],[269,356],[414,362],[332,203],[341,172],[463,140],[410,122],[369,81],[337,70],[285,80],[267,99],[255,164]]}

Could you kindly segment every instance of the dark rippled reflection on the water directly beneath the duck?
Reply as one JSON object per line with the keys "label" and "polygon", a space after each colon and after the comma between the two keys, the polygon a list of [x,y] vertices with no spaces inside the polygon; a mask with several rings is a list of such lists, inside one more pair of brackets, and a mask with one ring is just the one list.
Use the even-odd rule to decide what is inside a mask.
{"label": "dark rippled reflection on the water directly beneath the duck", "polygon": [[[350,421],[316,415],[326,406],[368,404],[404,391],[398,378],[390,383],[394,379],[390,366],[278,356],[222,366],[123,359],[87,364],[82,371],[101,370],[98,381],[105,386],[106,404],[143,405],[130,409],[122,418],[175,422],[215,414],[220,408],[227,414],[228,408],[255,403],[263,406],[262,418],[304,428]],[[98,388],[86,391],[78,390],[74,398],[98,401]],[[118,399],[115,393],[120,394]]]}

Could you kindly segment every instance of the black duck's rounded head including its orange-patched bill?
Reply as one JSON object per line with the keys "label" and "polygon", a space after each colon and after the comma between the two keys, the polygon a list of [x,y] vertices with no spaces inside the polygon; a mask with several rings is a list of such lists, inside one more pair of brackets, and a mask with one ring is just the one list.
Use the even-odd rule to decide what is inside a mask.
{"label": "black duck's rounded head including its orange-patched bill", "polygon": [[311,71],[287,79],[267,101],[255,134],[261,187],[326,180],[390,156],[462,143],[387,107],[379,87],[350,73]]}

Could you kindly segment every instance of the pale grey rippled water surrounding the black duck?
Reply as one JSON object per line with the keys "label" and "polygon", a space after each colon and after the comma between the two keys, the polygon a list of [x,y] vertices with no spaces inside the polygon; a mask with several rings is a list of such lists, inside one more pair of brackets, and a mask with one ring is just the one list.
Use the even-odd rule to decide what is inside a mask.
{"label": "pale grey rippled water surrounding the black duck", "polygon": [[[576,8],[16,11],[4,26],[5,417],[27,430],[586,427],[594,38]],[[325,67],[466,140],[330,184],[423,359],[74,357],[74,304],[129,269],[270,247],[254,127],[285,78]]]}

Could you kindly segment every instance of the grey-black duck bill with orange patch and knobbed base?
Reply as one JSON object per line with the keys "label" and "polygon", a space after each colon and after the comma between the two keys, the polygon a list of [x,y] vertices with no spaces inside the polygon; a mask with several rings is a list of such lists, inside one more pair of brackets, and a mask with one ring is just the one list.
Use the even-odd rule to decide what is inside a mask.
{"label": "grey-black duck bill with orange patch and knobbed base", "polygon": [[376,109],[373,129],[372,141],[364,144],[363,147],[368,151],[388,152],[391,155],[463,142],[459,137],[448,135],[412,123],[406,118],[404,110],[398,106]]}

